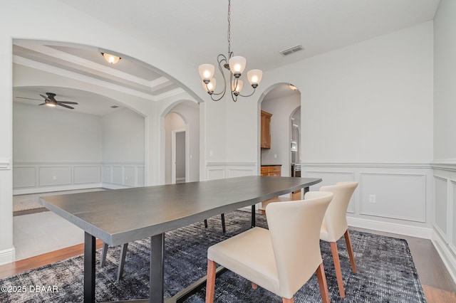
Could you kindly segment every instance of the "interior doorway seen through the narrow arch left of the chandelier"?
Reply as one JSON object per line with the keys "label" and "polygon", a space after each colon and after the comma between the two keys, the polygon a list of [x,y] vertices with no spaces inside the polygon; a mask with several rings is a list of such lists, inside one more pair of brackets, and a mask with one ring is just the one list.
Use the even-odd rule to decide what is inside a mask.
{"label": "interior doorway seen through the narrow arch left of the chandelier", "polygon": [[185,183],[185,129],[175,129],[172,131],[171,141],[171,183]]}

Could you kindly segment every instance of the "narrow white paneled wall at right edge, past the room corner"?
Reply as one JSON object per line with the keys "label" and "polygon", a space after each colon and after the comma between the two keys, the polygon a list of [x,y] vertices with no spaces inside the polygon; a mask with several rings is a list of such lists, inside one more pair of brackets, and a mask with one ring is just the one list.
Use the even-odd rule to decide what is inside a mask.
{"label": "narrow white paneled wall at right edge, past the room corner", "polygon": [[433,240],[456,281],[456,1],[441,0],[434,20]]}

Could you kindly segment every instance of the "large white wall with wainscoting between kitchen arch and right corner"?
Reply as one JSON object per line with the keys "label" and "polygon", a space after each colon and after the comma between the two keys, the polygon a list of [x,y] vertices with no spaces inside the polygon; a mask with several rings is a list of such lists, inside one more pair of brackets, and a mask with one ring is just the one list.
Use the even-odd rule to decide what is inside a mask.
{"label": "large white wall with wainscoting between kitchen arch and right corner", "polygon": [[430,238],[432,37],[426,22],[264,76],[301,91],[303,174],[323,179],[313,189],[360,182],[352,225]]}

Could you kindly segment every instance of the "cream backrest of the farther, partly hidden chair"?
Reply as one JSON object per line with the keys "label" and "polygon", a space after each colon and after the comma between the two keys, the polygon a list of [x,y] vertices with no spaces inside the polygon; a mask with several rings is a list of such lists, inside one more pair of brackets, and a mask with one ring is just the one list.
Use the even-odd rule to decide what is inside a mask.
{"label": "cream backrest of the farther, partly hidden chair", "polygon": [[334,193],[333,201],[329,204],[324,217],[328,238],[332,242],[341,238],[348,228],[347,208],[356,187],[358,187],[358,182],[344,181],[338,182],[336,185],[321,186],[320,188],[320,191]]}

